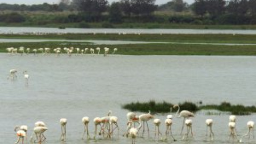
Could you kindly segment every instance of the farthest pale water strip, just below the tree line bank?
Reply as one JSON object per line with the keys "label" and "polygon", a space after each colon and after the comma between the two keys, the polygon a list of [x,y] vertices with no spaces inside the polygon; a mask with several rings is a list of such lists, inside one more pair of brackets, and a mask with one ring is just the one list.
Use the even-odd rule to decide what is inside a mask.
{"label": "farthest pale water strip, just below the tree line bank", "polygon": [[256,34],[256,30],[215,30],[215,29],[109,29],[109,28],[43,28],[43,27],[0,27],[0,34],[38,33],[107,33],[107,34]]}

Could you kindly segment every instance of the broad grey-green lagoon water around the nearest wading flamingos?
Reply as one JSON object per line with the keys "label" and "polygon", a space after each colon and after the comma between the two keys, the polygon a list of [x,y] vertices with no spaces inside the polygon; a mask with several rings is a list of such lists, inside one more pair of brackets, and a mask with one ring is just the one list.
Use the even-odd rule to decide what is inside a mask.
{"label": "broad grey-green lagoon water around the nearest wading flamingos", "polygon": [[[256,57],[243,56],[133,56],[133,55],[84,55],[67,57],[61,55],[15,55],[0,54],[1,113],[0,143],[16,141],[14,126],[26,124],[28,135],[33,132],[34,123],[43,121],[49,130],[45,132],[45,143],[60,143],[59,119],[65,117],[67,138],[64,143],[131,143],[122,137],[126,129],[127,110],[121,108],[132,101],[186,100],[204,104],[219,104],[222,101],[256,105]],[[17,81],[7,80],[10,69],[18,70]],[[25,86],[22,71],[30,75]],[[97,141],[81,140],[82,117],[89,116],[89,131],[93,137],[94,117],[106,116],[112,110],[118,117],[119,137]],[[141,113],[137,113],[141,114]],[[160,130],[165,131],[167,114],[156,114],[162,120]],[[228,141],[229,115],[205,115],[198,112],[193,118],[194,139],[182,141],[180,129],[182,118],[174,118],[172,132],[178,140],[175,143],[209,143],[205,141],[205,119],[213,118],[215,140],[212,143]],[[237,131],[240,136],[247,132],[246,123],[255,120],[256,115],[237,116]],[[153,121],[149,121],[150,138],[137,138],[136,143],[172,143],[154,140]],[[139,133],[141,135],[141,132]],[[247,140],[245,140],[247,142]],[[250,140],[255,143],[255,140]]]}

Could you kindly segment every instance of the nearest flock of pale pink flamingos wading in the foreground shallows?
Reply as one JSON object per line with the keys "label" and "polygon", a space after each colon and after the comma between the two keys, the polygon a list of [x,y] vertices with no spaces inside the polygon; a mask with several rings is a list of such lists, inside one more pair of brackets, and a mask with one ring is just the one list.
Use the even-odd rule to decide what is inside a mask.
{"label": "nearest flock of pale pink flamingos wading in the foreground shallows", "polygon": [[[179,106],[178,105],[174,105],[174,108],[176,108]],[[179,110],[176,113],[179,113]],[[185,113],[186,112],[186,113]],[[189,116],[186,116],[185,114],[189,114]],[[189,140],[189,134],[191,134],[191,137],[193,138],[193,130],[192,130],[192,125],[193,125],[193,121],[191,119],[193,113],[191,113],[190,111],[181,111],[180,115],[177,117],[184,117],[185,121],[182,125],[186,125],[187,127],[187,131],[181,135],[182,139],[181,140]],[[195,115],[193,114],[193,117]],[[123,134],[123,136],[126,135],[126,137],[130,137],[131,138],[131,143],[135,144],[136,138],[139,135],[139,131],[143,125],[143,131],[141,134],[141,137],[143,137],[143,134],[145,132],[145,125],[147,125],[147,130],[148,130],[148,137],[149,137],[149,127],[148,127],[148,121],[150,121],[151,119],[153,119],[153,124],[155,125],[155,140],[157,138],[157,140],[159,140],[159,136],[161,136],[161,140],[167,140],[168,135],[170,134],[173,141],[177,141],[177,139],[175,139],[172,135],[172,131],[171,131],[171,126],[173,124],[173,116],[172,115],[167,115],[166,119],[164,121],[165,125],[166,125],[166,131],[165,131],[165,138],[163,138],[163,135],[159,129],[159,125],[161,125],[161,119],[159,118],[155,118],[154,115],[152,115],[149,111],[149,113],[145,113],[145,114],[141,114],[139,116],[137,116],[137,114],[135,114],[134,112],[129,112],[126,114],[127,117],[127,129],[125,131],[125,133]],[[82,117],[82,124],[84,125],[84,131],[83,131],[83,135],[82,135],[82,140],[84,139],[84,135],[86,133],[86,139],[90,140],[90,132],[89,132],[89,122],[90,119],[89,117]],[[112,111],[109,110],[108,114],[106,116],[103,117],[95,117],[93,119],[93,123],[95,125],[95,131],[94,131],[94,137],[93,139],[96,140],[99,137],[102,137],[104,139],[108,139],[108,138],[113,138],[114,137],[114,132],[117,131],[117,135],[119,132],[119,126],[118,126],[118,118],[116,116],[112,116]],[[135,123],[138,123],[138,126],[135,126]],[[237,140],[237,142],[242,142],[242,139],[244,139],[244,137],[248,137],[248,139],[250,140],[251,136],[254,139],[254,122],[253,121],[248,121],[247,122],[247,127],[248,127],[248,131],[246,134],[242,135],[241,139],[238,140],[238,136],[237,136],[237,132],[236,132],[236,128],[235,128],[235,123],[236,123],[236,116],[235,115],[230,115],[229,117],[229,123],[228,123],[228,127],[229,127],[229,131],[230,131],[230,135],[229,135],[229,139],[233,138],[234,140]],[[205,121],[206,124],[206,141],[207,141],[207,137],[208,137],[208,132],[210,133],[209,137],[210,137],[210,141],[214,140],[214,133],[212,131],[212,126],[213,126],[213,119],[208,118]],[[60,125],[61,125],[61,137],[60,137],[60,141],[66,141],[66,125],[67,125],[67,118],[60,118]],[[97,129],[99,127],[99,132],[97,133]],[[31,135],[30,138],[30,142],[38,142],[41,143],[43,141],[46,140],[46,137],[44,135],[44,132],[47,131],[48,128],[46,127],[46,124],[42,121],[38,121],[35,123],[35,127],[33,129],[33,134]],[[25,138],[27,141],[27,131],[28,131],[28,126],[27,125],[21,125],[21,126],[15,126],[14,131],[17,134],[17,138],[18,140],[15,143],[24,143]],[[34,139],[35,137],[35,139]],[[100,138],[100,139],[102,139]],[[194,138],[193,138],[194,139]]]}

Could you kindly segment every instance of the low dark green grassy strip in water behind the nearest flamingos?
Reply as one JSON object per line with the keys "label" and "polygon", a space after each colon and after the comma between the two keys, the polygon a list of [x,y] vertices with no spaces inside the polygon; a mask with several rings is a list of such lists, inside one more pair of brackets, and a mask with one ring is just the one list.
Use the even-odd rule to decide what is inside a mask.
{"label": "low dark green grassy strip in water behind the nearest flamingos", "polygon": [[[251,113],[256,113],[255,106],[243,106],[243,105],[231,105],[229,102],[221,102],[220,105],[200,105],[198,106],[193,102],[183,102],[179,103],[180,110],[189,110],[196,112],[198,110],[218,110],[222,112],[229,112],[233,115],[250,115]],[[150,110],[153,113],[169,113],[174,112],[176,110],[172,109],[173,104],[163,101],[156,102],[154,100],[150,100],[148,102],[131,102],[125,105],[122,105],[122,108],[128,109],[130,111],[141,111],[147,112]],[[170,109],[171,108],[171,109]],[[170,111],[171,110],[171,111]],[[219,113],[218,113],[219,114]]]}

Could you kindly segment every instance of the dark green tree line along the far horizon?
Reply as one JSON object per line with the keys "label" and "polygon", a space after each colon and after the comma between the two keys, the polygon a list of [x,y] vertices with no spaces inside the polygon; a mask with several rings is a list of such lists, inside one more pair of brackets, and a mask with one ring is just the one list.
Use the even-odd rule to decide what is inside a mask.
{"label": "dark green tree line along the far horizon", "polygon": [[[0,4],[0,10],[12,11],[76,11],[67,17],[56,16],[55,23],[68,22],[158,22],[193,23],[206,25],[248,25],[256,23],[256,0],[195,0],[187,4],[183,0],[172,0],[156,5],[156,0],[60,0],[58,4]],[[156,15],[155,11],[189,11],[190,15]],[[14,19],[12,18],[14,17]],[[28,18],[19,13],[1,13],[0,22],[24,22]]]}

